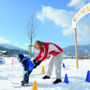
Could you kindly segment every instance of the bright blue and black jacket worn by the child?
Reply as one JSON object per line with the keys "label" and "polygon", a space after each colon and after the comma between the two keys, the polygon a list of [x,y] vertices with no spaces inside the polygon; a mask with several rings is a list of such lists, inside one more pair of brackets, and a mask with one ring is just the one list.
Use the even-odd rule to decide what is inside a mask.
{"label": "bright blue and black jacket worn by the child", "polygon": [[32,71],[33,68],[34,68],[34,64],[31,61],[31,58],[29,58],[29,57],[24,57],[21,60],[21,63],[23,65],[23,68],[24,68],[25,71]]}

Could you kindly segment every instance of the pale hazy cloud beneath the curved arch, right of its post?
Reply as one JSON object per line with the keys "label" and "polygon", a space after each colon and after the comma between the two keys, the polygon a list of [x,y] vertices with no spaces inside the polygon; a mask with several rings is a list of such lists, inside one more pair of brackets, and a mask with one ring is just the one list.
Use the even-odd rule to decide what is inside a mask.
{"label": "pale hazy cloud beneath the curved arch, right of its post", "polygon": [[78,41],[90,41],[90,14],[77,24]]}

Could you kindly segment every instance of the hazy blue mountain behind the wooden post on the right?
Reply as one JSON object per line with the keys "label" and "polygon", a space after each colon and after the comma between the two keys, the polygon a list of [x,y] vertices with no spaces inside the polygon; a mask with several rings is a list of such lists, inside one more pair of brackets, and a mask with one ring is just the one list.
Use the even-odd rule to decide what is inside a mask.
{"label": "hazy blue mountain behind the wooden post on the right", "polygon": [[[63,48],[64,54],[67,56],[75,56],[75,45]],[[90,55],[90,45],[78,45],[78,55]]]}

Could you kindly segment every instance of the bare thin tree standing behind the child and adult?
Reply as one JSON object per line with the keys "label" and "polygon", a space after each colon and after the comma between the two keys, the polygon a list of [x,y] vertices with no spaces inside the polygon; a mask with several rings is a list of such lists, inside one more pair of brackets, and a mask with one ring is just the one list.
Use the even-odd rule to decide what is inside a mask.
{"label": "bare thin tree standing behind the child and adult", "polygon": [[30,17],[27,23],[28,26],[28,38],[30,40],[30,45],[28,47],[28,55],[32,56],[32,43],[35,38],[35,30],[37,28],[37,24],[35,22],[35,18],[33,16]]}

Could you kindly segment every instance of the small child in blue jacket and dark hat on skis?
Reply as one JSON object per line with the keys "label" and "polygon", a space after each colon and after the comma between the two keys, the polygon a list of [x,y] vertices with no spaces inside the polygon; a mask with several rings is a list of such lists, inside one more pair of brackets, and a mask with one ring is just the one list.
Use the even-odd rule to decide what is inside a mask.
{"label": "small child in blue jacket and dark hat on skis", "polygon": [[31,74],[31,72],[34,68],[34,64],[31,61],[31,58],[24,57],[23,54],[19,54],[17,59],[20,63],[22,63],[23,68],[24,68],[24,70],[23,70],[24,77],[23,77],[23,80],[21,81],[21,85],[24,86],[25,84],[28,84],[28,82],[29,82],[29,75]]}

